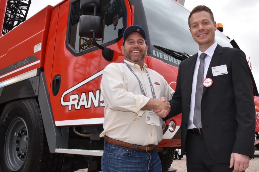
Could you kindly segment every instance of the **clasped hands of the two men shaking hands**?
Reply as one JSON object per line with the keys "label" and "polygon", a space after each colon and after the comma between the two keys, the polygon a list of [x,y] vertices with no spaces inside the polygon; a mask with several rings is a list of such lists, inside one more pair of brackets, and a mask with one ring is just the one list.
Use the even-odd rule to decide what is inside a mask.
{"label": "clasped hands of the two men shaking hands", "polygon": [[161,97],[161,99],[155,99],[157,102],[157,107],[153,109],[153,111],[160,116],[161,118],[167,117],[171,110],[170,103],[167,101],[165,97]]}

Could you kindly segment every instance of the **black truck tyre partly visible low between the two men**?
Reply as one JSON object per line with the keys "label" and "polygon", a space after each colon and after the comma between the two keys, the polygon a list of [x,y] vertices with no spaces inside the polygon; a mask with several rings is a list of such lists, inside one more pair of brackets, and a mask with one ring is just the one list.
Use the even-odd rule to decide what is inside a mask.
{"label": "black truck tyre partly visible low between the two men", "polygon": [[[165,151],[165,150],[164,150]],[[162,172],[167,172],[173,163],[174,159],[174,149],[170,148],[166,150],[166,153],[159,153],[159,157],[162,165]]]}

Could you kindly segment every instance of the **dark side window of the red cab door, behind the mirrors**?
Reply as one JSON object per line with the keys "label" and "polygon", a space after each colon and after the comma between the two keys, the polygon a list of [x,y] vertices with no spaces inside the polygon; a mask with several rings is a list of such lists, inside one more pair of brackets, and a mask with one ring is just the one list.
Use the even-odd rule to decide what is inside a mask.
{"label": "dark side window of the red cab door, behind the mirrors", "polygon": [[[84,38],[78,35],[79,32],[79,18],[83,15],[80,10],[80,1],[71,2],[71,16],[70,16],[70,30],[68,43],[75,52],[82,52],[84,50],[95,47],[92,38]],[[92,11],[84,13],[84,15],[93,15]],[[114,43],[122,37],[123,31],[123,8],[120,0],[106,0],[103,1],[103,10],[97,13],[104,21],[103,37],[97,38],[98,44]],[[107,44],[109,45],[109,44]],[[103,45],[103,46],[107,46]],[[94,50],[94,49],[93,49]]]}

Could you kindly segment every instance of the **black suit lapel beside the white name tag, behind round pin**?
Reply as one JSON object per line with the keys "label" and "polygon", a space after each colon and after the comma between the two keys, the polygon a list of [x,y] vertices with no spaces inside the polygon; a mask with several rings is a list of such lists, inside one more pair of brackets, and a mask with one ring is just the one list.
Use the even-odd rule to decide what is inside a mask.
{"label": "black suit lapel beside the white name tag, behind round pin", "polygon": [[[212,59],[210,61],[209,69],[208,69],[207,75],[206,75],[206,78],[210,78],[210,79],[212,79],[212,81],[213,81],[213,75],[212,75],[212,69],[211,68],[215,67],[215,66],[218,66],[218,63],[223,56],[222,53],[223,53],[223,47],[218,44],[214,53],[213,53]],[[203,87],[202,96],[204,95],[207,88],[208,87]]]}

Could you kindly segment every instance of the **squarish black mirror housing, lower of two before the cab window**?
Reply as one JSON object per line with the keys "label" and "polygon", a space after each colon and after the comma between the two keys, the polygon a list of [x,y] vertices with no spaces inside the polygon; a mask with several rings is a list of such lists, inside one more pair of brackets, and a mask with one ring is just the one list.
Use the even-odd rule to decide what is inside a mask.
{"label": "squarish black mirror housing, lower of two before the cab window", "polygon": [[81,15],[79,19],[79,36],[93,38],[95,32],[96,38],[102,38],[103,18],[93,15]]}

